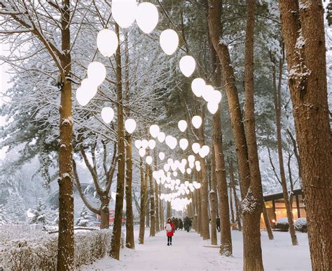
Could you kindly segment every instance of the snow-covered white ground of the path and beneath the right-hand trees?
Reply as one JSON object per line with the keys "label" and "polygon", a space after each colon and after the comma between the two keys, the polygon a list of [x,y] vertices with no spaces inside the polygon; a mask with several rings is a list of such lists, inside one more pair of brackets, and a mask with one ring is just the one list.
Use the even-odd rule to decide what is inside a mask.
{"label": "snow-covered white ground of the path and beneath the right-hand trees", "polygon": [[[135,228],[135,249],[122,249],[120,261],[105,257],[81,270],[242,270],[242,233],[232,232],[233,257],[219,256],[219,249],[210,247],[194,231],[177,231],[172,247],[167,246],[165,230],[138,244]],[[262,232],[265,270],[311,270],[306,233],[297,233],[298,246],[291,245],[289,233],[275,232],[275,240],[268,240]],[[220,237],[220,236],[218,236]]]}

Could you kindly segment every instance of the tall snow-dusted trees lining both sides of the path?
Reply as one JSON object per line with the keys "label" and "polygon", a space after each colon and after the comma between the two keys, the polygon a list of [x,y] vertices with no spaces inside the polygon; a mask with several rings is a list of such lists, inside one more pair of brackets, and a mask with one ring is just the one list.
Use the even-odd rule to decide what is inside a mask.
{"label": "tall snow-dusted trees lining both sides of the path", "polygon": [[[220,253],[232,255],[229,207],[232,193],[228,193],[231,186],[237,224],[243,228],[244,270],[263,270],[260,219],[263,212],[269,229],[262,190],[263,177],[268,177],[269,181],[263,182],[268,189],[272,178],[282,186],[291,240],[297,243],[283,161],[287,149],[291,188],[291,176],[297,175],[305,193],[312,268],[331,268],[328,257],[331,152],[326,151],[331,149],[331,133],[324,8],[320,1],[280,0],[279,6],[274,1],[254,0],[190,1],[181,5],[177,1],[158,1],[162,14],[158,30],[172,27],[181,40],[179,52],[170,58],[158,49],[155,33],[158,30],[143,36],[136,27],[130,31],[119,29],[111,19],[110,5],[108,1],[0,1],[0,13],[4,15],[1,34],[11,44],[6,61],[18,73],[14,87],[8,91],[11,103],[4,105],[4,115],[11,123],[1,144],[14,147],[27,143],[20,163],[39,156],[42,172],[49,182],[53,180],[49,168],[55,157],[59,161],[57,268],[67,270],[74,266],[73,183],[88,209],[101,216],[101,228],[109,227],[110,193],[112,188],[116,190],[111,242],[114,258],[119,258],[124,196],[127,247],[134,248],[132,195],[140,214],[139,242],[144,243],[146,219],[150,220],[151,236],[162,228],[164,208],[170,217],[171,205],[160,200],[160,194],[167,191],[153,181],[152,170],[160,163],[155,158],[149,166],[139,158],[132,149],[132,136],[124,131],[124,119],[137,119],[135,138],[147,138],[148,126],[155,123],[179,137],[175,130],[177,121],[186,119],[191,124],[193,115],[200,115],[203,125],[200,129],[189,126],[186,138],[190,143],[212,147],[209,159],[196,157],[202,170],[187,176],[191,182],[202,184],[201,189],[190,193],[192,202],[187,212],[194,217],[193,226],[203,239],[211,238],[212,244],[216,244],[214,225],[219,214]],[[114,28],[121,43],[115,57],[105,61],[96,50],[95,38],[98,29],[108,27]],[[206,104],[192,94],[191,81],[181,77],[177,69],[182,54],[191,54],[198,62],[194,76],[205,78],[226,94],[213,117],[208,115]],[[97,96],[82,108],[72,103],[72,90],[85,78],[86,67],[93,60],[103,61],[109,73]],[[284,61],[288,67],[289,92]],[[99,112],[109,104],[116,107],[116,119],[108,126],[100,120]],[[293,120],[296,136],[293,136]],[[258,152],[264,148],[268,149],[271,166],[262,170]],[[272,158],[271,148],[277,149],[277,159]],[[235,159],[242,208],[233,180],[231,161]],[[278,170],[274,166],[276,160]],[[90,203],[81,189],[76,161],[87,166],[99,206]],[[230,172],[230,185],[226,169]],[[140,203],[136,193],[132,193],[135,189],[140,191]]]}

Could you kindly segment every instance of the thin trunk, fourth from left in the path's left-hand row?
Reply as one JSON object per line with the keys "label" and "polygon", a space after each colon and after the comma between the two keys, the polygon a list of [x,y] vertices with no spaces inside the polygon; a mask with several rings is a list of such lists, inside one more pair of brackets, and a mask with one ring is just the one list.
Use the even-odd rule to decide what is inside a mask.
{"label": "thin trunk, fourth from left in the path's left-hand row", "polygon": [[139,244],[144,244],[146,199],[147,199],[147,177],[144,175],[143,159],[140,157],[139,170],[141,175],[141,210],[139,212]]}

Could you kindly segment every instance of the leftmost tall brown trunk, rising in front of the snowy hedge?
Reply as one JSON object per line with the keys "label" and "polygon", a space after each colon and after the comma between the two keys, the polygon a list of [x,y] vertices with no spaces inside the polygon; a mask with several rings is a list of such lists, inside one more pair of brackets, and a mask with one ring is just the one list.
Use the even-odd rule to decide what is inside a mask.
{"label": "leftmost tall brown trunk, rising in front of the snowy hedge", "polygon": [[[64,75],[71,76],[70,1],[63,0],[61,8],[62,57]],[[64,80],[64,78],[63,78]],[[73,119],[71,112],[71,82],[64,80],[60,98],[59,150],[59,237],[57,270],[74,270],[74,197],[73,197]],[[64,147],[63,147],[64,146]]]}

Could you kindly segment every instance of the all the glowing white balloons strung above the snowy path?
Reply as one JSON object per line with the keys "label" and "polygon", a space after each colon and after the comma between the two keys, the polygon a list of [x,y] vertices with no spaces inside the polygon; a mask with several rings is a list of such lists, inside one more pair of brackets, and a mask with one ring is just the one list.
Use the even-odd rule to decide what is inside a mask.
{"label": "all the glowing white balloons strung above the snowy path", "polygon": [[[146,34],[151,33],[153,29],[158,24],[158,9],[153,5],[153,3],[143,2],[137,5],[136,0],[113,0],[111,6],[111,12],[113,19],[116,23],[123,29],[130,27],[132,23],[136,20],[138,27]],[[99,52],[104,57],[111,57],[117,50],[119,45],[118,36],[111,29],[102,29],[97,35],[97,47]],[[172,29],[166,29],[160,34],[160,47],[167,55],[173,54],[179,45],[179,36],[177,32]],[[186,77],[190,77],[196,68],[195,59],[189,55],[181,57],[179,61],[179,68],[181,73]],[[97,94],[97,87],[102,85],[106,78],[106,68],[105,66],[98,62],[94,61],[88,66],[88,78],[85,78],[81,82],[81,87],[76,91],[76,98],[78,103],[81,105],[87,105],[91,99]],[[209,112],[214,114],[218,110],[219,103],[221,101],[220,91],[214,90],[210,85],[206,85],[205,80],[202,78],[195,78],[191,83],[191,88],[195,96],[202,97],[207,101],[207,109]],[[102,119],[106,124],[112,122],[114,117],[114,111],[110,107],[102,108]],[[200,128],[202,125],[202,118],[200,116],[194,116],[191,119],[191,122],[195,129]],[[179,130],[181,132],[186,131],[187,122],[185,120],[179,121]],[[125,121],[125,130],[127,133],[133,133],[136,129],[136,122],[134,119],[127,119]],[[153,138],[158,139],[160,143],[164,142],[170,149],[175,149],[178,144],[177,138],[174,136],[166,136],[165,133],[160,131],[157,125],[151,125],[149,132]],[[141,157],[146,156],[146,149],[154,149],[156,142],[155,140],[136,140],[134,142],[135,147],[139,150],[139,155]],[[188,147],[188,140],[186,138],[181,138],[179,140],[179,147],[183,150],[186,150]],[[199,143],[195,142],[191,146],[195,154],[199,154],[202,158],[205,158],[209,154],[209,146],[204,145],[200,146]],[[165,159],[165,153],[159,152],[159,159],[162,161]],[[188,161],[188,168],[186,164]],[[151,165],[153,162],[152,156],[146,156],[146,163]],[[200,161],[195,161],[195,156],[189,155],[188,160],[182,159],[181,162],[178,160],[173,161],[168,159],[167,163],[164,165],[163,170],[153,171],[153,177],[155,181],[160,184],[164,184],[165,187],[170,188],[171,190],[176,189],[177,192],[170,194],[162,194],[160,198],[163,198],[168,201],[172,201],[172,207],[176,210],[182,210],[186,205],[191,203],[191,199],[188,198],[177,198],[180,195],[189,193],[194,189],[200,189],[200,184],[198,182],[193,182],[189,184],[188,181],[181,184],[179,179],[172,180],[171,173],[169,172],[170,168],[173,170],[172,175],[177,177],[177,169],[184,174],[191,174],[192,169],[195,167],[197,171],[200,171]],[[164,171],[165,170],[165,171]]]}

